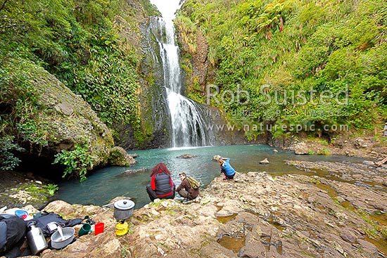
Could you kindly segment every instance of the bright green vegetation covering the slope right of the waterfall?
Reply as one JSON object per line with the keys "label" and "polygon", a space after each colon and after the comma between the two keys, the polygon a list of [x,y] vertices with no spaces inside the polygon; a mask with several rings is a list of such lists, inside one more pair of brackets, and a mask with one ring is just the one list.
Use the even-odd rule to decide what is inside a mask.
{"label": "bright green vegetation covering the slope right of the waterfall", "polygon": [[[211,98],[211,104],[239,124],[328,124],[332,134],[336,124],[373,129],[387,117],[384,0],[187,0],[177,27],[189,49],[188,75],[192,56],[200,54],[198,30],[205,35],[208,74],[214,74],[207,83],[224,93],[224,101]],[[207,102],[203,87],[189,89],[189,96]],[[249,98],[244,93],[233,101],[238,91]],[[250,128],[246,135],[260,133]]]}

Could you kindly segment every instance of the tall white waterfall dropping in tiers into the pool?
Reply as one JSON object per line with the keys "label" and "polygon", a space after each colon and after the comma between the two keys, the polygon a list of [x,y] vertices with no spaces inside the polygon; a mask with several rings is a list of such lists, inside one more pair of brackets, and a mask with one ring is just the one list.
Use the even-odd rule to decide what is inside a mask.
{"label": "tall white waterfall dropping in tiers into the pool", "polygon": [[210,137],[205,133],[205,119],[201,107],[182,96],[182,76],[179,66],[179,46],[175,44],[173,19],[180,8],[179,0],[151,0],[160,11],[162,18],[151,18],[153,34],[160,46],[163,62],[164,86],[170,110],[170,146],[206,146]]}

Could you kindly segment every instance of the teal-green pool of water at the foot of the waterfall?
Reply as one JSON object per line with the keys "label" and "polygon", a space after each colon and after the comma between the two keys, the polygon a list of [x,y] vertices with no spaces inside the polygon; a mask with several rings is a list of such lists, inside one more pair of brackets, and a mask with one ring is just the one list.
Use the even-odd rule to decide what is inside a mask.
{"label": "teal-green pool of water at the foot of the waterfall", "polygon": [[[238,172],[265,171],[271,174],[305,174],[296,167],[284,164],[284,160],[308,161],[345,161],[361,162],[361,159],[343,156],[322,155],[295,155],[291,151],[278,150],[265,145],[235,145],[198,148],[170,148],[155,150],[137,150],[137,164],[132,167],[105,167],[90,174],[87,181],[80,183],[78,180],[68,180],[58,183],[59,191],[56,199],[69,203],[82,205],[106,205],[117,196],[127,196],[136,203],[134,209],[139,209],[149,202],[146,193],[146,184],[150,181],[150,171],[158,162],[165,162],[172,173],[172,179],[178,186],[179,173],[186,172],[207,186],[215,176],[219,176],[219,163],[212,160],[214,155],[231,158],[231,166]],[[182,154],[193,154],[198,157],[190,159],[179,158]],[[267,158],[268,165],[260,165],[260,160]],[[146,167],[148,172],[139,172],[123,176],[127,169],[140,169]],[[328,172],[326,172],[328,176]],[[321,172],[319,176],[324,176]]]}

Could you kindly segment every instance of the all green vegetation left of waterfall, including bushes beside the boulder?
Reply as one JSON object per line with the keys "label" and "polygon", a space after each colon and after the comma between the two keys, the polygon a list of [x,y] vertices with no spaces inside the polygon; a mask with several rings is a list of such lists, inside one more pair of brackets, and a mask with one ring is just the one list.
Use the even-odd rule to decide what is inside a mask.
{"label": "all green vegetation left of waterfall, including bushes beside the boulder", "polygon": [[[142,141],[136,47],[144,12],[155,11],[143,0],[1,0],[0,148],[47,146],[32,120],[39,115],[31,83],[37,67],[82,96],[113,133],[115,124],[129,124]],[[9,157],[14,167],[18,160]]]}

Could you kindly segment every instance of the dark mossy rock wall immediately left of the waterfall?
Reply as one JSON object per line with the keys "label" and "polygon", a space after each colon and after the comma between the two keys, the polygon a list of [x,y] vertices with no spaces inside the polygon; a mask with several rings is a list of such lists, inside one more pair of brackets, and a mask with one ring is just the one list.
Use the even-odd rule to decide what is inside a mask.
{"label": "dark mossy rock wall immediately left of the waterfall", "polygon": [[160,13],[154,6],[145,8],[142,1],[131,1],[131,6],[136,10],[133,17],[136,28],[132,30],[130,25],[125,23],[120,34],[131,42],[137,49],[138,56],[141,56],[137,82],[137,113],[141,128],[134,128],[132,124],[114,124],[119,135],[115,137],[115,143],[126,150],[167,147],[170,121],[163,85],[163,64],[158,42],[152,31],[154,15]]}

